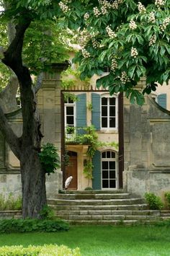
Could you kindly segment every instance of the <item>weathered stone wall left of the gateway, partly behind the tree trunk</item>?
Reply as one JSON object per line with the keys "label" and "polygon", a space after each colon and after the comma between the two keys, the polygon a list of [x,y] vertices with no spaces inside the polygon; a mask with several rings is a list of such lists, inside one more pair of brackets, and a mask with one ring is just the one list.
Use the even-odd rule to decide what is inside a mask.
{"label": "weathered stone wall left of the gateway, partly behind the tree trunk", "polygon": [[[54,66],[53,74],[44,75],[42,89],[37,93],[37,104],[42,122],[41,131],[43,134],[42,143],[53,143],[61,154],[61,71],[64,66]],[[16,106],[15,106],[16,107]],[[7,114],[9,123],[17,136],[22,134],[21,111]],[[48,198],[55,198],[59,189],[62,189],[62,172],[57,170],[46,177],[46,190]],[[9,149],[0,134],[0,194],[21,195],[21,175],[19,161]]]}

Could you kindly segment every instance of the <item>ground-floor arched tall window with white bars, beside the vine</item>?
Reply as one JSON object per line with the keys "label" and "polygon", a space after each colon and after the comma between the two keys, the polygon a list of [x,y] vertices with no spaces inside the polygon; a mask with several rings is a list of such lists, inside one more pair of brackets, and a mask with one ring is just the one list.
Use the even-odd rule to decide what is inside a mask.
{"label": "ground-floor arched tall window with white bars, beside the vine", "polygon": [[117,187],[117,164],[113,151],[102,152],[102,188]]}

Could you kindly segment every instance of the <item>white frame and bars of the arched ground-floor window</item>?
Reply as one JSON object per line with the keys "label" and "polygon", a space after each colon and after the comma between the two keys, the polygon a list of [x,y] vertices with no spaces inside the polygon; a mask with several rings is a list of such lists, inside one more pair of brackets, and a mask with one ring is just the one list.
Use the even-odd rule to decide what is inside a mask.
{"label": "white frame and bars of the arched ground-floor window", "polygon": [[[102,153],[104,152],[113,152],[115,153],[115,158],[102,158]],[[111,180],[115,180],[115,187],[103,187],[103,184],[102,184],[102,162],[113,162],[115,161],[115,179],[111,179]],[[117,169],[117,152],[113,151],[113,150],[109,150],[109,149],[106,149],[104,151],[101,152],[101,187],[102,187],[102,190],[117,190],[118,188],[118,183],[119,183],[119,175],[118,175],[118,169]],[[108,172],[109,172],[109,169],[108,169]],[[109,180],[109,174],[108,174],[108,179],[105,179],[105,180]]]}

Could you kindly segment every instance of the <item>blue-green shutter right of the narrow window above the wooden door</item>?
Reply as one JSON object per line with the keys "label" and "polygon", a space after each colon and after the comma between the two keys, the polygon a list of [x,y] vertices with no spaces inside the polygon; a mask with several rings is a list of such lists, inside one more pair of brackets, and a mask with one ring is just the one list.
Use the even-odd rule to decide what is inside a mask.
{"label": "blue-green shutter right of the narrow window above the wooden door", "polygon": [[77,95],[76,127],[86,127],[86,93]]}

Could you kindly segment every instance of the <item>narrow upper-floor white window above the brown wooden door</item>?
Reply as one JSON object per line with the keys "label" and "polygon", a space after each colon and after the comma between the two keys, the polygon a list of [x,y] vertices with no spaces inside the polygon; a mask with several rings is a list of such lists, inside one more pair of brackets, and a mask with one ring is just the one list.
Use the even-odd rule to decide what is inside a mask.
{"label": "narrow upper-floor white window above the brown wooden door", "polygon": [[75,116],[75,103],[72,99],[68,98],[65,100],[65,126],[75,127],[76,126],[76,116]]}

